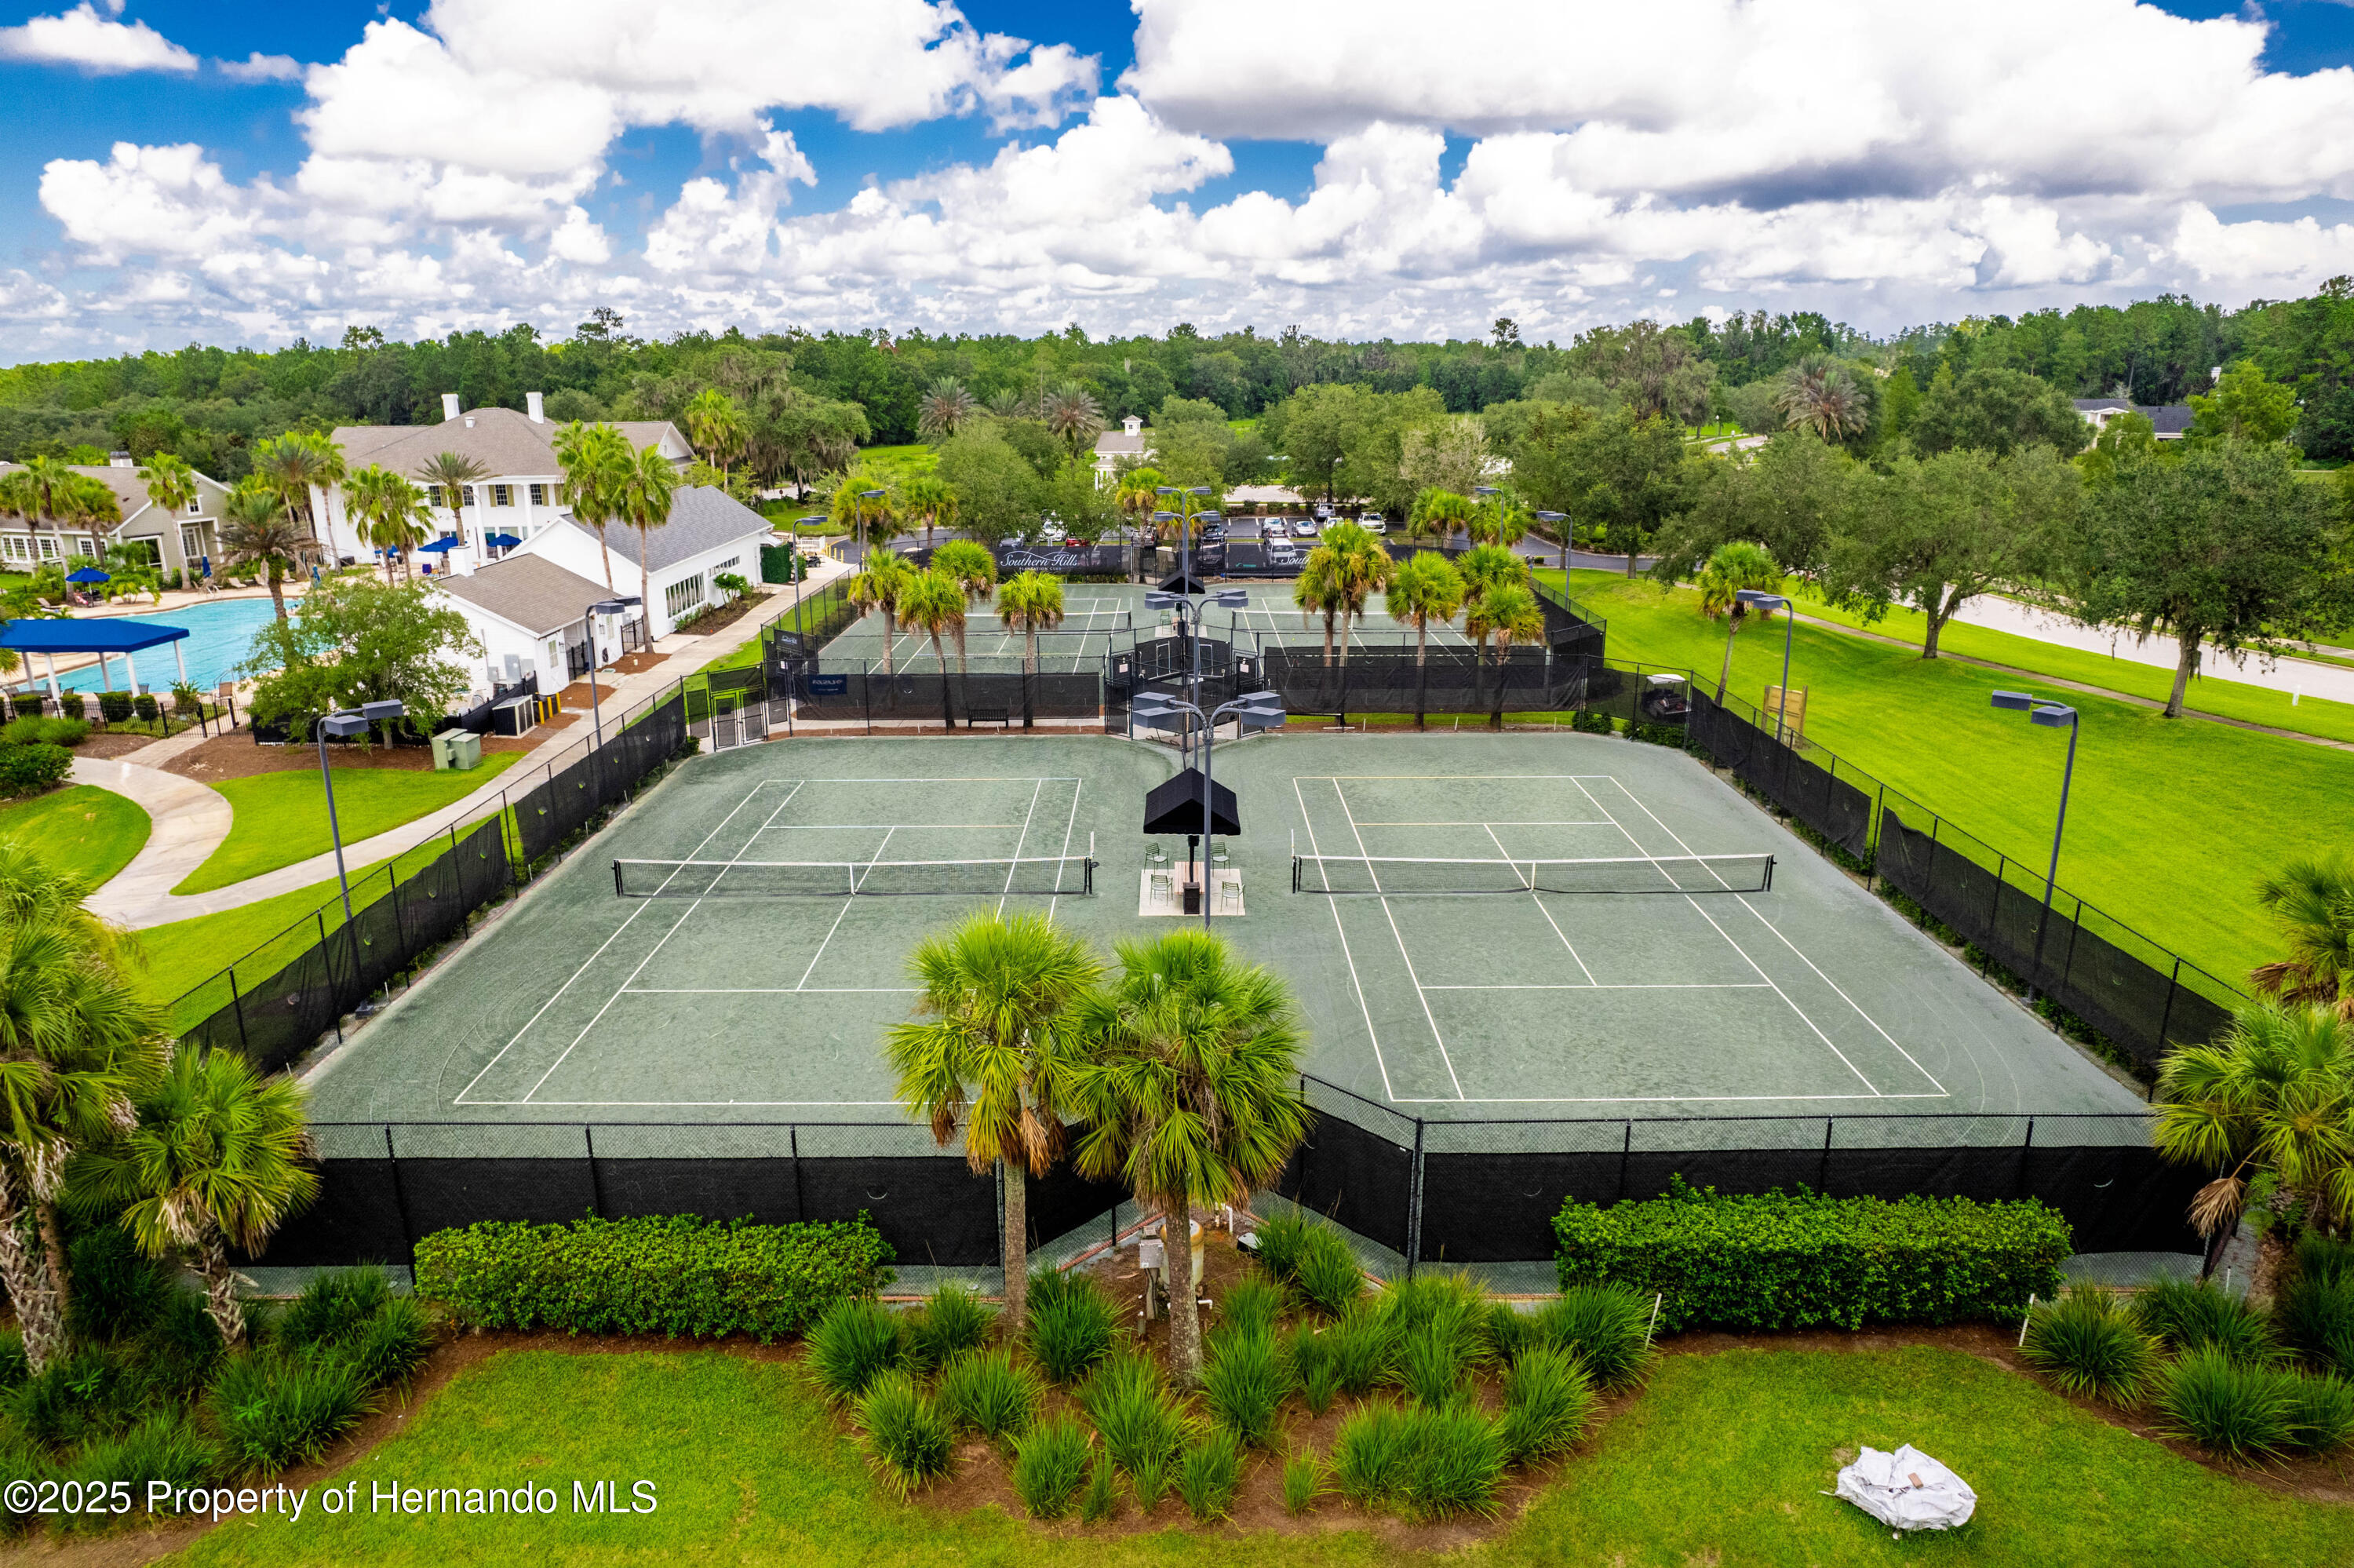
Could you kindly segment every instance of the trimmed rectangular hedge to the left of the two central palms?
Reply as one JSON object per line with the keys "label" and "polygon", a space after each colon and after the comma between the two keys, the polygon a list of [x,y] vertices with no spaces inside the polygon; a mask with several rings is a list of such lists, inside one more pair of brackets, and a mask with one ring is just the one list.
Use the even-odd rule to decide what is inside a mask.
{"label": "trimmed rectangular hedge to the left of the two central palms", "polygon": [[417,1295],[478,1328],[574,1335],[796,1335],[843,1297],[890,1283],[892,1248],[864,1215],[826,1224],[692,1215],[520,1224],[490,1220],[417,1243]]}

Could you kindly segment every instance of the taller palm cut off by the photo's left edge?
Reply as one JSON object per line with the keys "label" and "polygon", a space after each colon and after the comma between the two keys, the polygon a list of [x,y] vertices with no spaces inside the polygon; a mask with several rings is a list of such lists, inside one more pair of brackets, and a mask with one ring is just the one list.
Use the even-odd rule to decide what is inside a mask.
{"label": "taller palm cut off by the photo's left edge", "polygon": [[0,1283],[33,1370],[66,1333],[66,1163],[129,1121],[127,1095],[160,1062],[132,946],[87,895],[87,878],[0,838]]}

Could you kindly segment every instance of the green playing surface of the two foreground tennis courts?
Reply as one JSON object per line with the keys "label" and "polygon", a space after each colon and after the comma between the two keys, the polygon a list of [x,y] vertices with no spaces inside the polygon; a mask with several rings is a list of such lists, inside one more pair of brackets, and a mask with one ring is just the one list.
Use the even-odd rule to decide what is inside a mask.
{"label": "green playing surface of the two foreground tennis courts", "polygon": [[[313,1116],[871,1121],[927,932],[1038,909],[1109,956],[1182,923],[1139,833],[1170,772],[1116,737],[692,758],[363,1029]],[[1368,1099],[1464,1121],[2140,1104],[1681,753],[1269,735],[1219,746],[1217,779],[1245,836],[1222,841],[1238,897],[1215,928],[1292,984],[1309,1071]],[[1339,892],[1295,892],[1295,857]],[[621,897],[617,859],[659,897]]]}

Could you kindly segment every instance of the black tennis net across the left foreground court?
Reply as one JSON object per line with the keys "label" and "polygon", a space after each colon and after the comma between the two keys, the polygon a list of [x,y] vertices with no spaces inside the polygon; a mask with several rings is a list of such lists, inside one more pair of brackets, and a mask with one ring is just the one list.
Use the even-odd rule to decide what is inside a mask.
{"label": "black tennis net across the left foreground court", "polygon": [[617,859],[612,890],[624,899],[1088,895],[1095,859]]}

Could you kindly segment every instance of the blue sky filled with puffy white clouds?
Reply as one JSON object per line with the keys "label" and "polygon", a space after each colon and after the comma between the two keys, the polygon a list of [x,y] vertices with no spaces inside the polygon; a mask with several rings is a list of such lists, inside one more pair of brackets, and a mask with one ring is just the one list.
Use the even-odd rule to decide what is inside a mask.
{"label": "blue sky filled with puffy white clouds", "polygon": [[[2354,5],[843,9],[673,0],[654,40],[619,0],[0,5],[0,358],[593,304],[1895,327],[2354,271]],[[254,54],[290,80],[219,66]]]}

